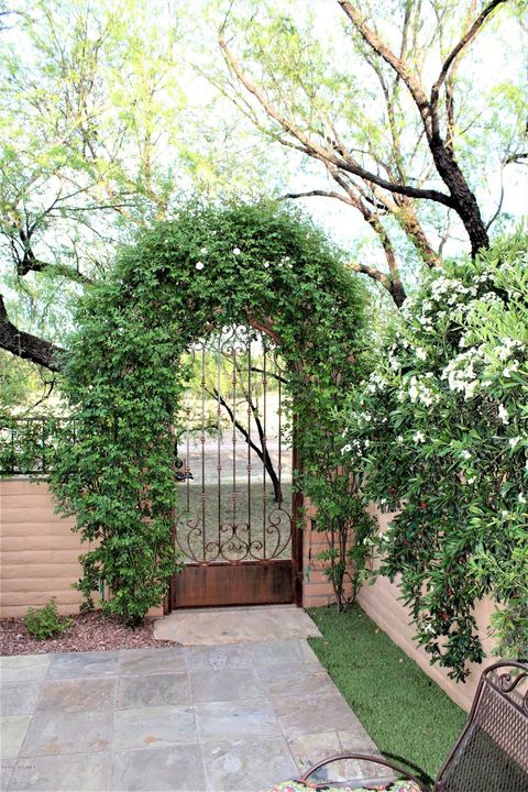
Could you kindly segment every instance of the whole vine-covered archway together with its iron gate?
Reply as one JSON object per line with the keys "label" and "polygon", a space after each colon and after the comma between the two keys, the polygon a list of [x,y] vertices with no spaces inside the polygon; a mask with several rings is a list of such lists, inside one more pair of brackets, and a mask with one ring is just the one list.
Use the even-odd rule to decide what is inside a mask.
{"label": "whole vine-covered archway together with its iron gate", "polygon": [[339,464],[362,323],[361,284],[285,209],[191,206],[142,233],[65,366],[76,442],[52,486],[91,542],[84,594],[105,582],[130,622],[163,598],[298,602],[299,491]]}

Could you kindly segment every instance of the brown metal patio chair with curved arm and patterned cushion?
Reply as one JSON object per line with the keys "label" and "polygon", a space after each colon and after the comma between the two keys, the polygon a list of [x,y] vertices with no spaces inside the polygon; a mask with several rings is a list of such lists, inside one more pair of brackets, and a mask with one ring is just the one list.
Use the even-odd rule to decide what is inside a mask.
{"label": "brown metal patio chair with curved arm and patterned cushion", "polygon": [[[367,761],[389,769],[393,780],[385,780],[383,785],[376,785],[375,781],[364,778],[354,782],[310,781],[317,771],[343,760]],[[421,773],[421,777],[424,776]],[[395,778],[399,780],[394,780]],[[432,787],[426,785],[407,770],[386,759],[363,754],[342,754],[314,765],[298,780],[280,783],[268,792],[306,790],[528,792],[528,666],[502,661],[485,669],[468,722]]]}

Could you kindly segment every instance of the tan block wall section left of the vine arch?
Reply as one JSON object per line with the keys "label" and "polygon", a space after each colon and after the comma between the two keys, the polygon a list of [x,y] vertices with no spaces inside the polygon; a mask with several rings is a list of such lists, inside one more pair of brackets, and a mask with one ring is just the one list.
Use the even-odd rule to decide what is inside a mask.
{"label": "tan block wall section left of the vine arch", "polygon": [[59,613],[78,610],[79,537],[73,519],[54,514],[45,482],[0,481],[0,615],[24,616],[56,597]]}

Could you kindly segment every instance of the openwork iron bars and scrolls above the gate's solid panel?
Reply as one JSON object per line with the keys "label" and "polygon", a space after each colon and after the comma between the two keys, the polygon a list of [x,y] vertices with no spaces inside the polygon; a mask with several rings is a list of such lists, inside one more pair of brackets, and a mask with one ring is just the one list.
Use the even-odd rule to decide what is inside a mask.
{"label": "openwork iron bars and scrolls above the gate's solid panel", "polygon": [[224,327],[194,344],[188,363],[177,546],[200,564],[290,558],[292,449],[279,349],[250,326]]}

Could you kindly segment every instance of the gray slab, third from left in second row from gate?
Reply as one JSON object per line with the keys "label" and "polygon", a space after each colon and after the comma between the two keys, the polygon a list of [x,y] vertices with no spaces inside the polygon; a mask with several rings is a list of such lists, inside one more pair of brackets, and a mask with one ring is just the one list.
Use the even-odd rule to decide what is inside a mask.
{"label": "gray slab, third from left in second row from gate", "polygon": [[190,704],[190,692],[186,673],[141,674],[119,680],[117,710],[187,704]]}

